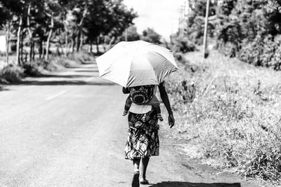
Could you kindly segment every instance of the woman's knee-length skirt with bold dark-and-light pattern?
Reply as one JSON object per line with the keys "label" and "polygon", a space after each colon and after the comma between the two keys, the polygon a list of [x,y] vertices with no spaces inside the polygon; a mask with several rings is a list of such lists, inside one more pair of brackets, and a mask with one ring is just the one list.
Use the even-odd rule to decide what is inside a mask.
{"label": "woman's knee-length skirt with bold dark-and-light pattern", "polygon": [[157,113],[129,113],[129,134],[125,146],[126,159],[141,159],[159,155]]}

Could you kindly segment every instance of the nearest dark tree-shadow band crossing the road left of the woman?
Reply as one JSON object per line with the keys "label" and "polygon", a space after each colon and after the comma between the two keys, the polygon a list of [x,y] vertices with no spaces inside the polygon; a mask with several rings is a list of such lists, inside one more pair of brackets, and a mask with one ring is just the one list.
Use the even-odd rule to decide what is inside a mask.
{"label": "nearest dark tree-shadow band crossing the road left of the woman", "polygon": [[21,81],[14,85],[115,85],[115,83],[95,83],[91,81]]}

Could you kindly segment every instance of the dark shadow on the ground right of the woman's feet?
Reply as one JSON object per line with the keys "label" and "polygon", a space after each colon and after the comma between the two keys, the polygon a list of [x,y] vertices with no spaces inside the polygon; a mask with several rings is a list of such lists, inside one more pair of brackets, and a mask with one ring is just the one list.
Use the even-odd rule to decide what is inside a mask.
{"label": "dark shadow on the ground right of the woman's feet", "polygon": [[240,183],[190,183],[168,181],[154,184],[150,187],[241,187]]}

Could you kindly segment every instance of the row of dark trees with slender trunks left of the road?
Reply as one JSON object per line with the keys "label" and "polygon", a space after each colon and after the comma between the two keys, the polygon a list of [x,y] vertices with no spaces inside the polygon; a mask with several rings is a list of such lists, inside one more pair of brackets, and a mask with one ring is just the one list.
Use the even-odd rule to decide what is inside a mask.
{"label": "row of dark trees with slender trunks left of the road", "polygon": [[50,53],[66,57],[84,44],[118,41],[136,18],[122,0],[3,0],[0,15],[8,41],[15,42],[19,65],[34,62],[35,55],[45,60]]}

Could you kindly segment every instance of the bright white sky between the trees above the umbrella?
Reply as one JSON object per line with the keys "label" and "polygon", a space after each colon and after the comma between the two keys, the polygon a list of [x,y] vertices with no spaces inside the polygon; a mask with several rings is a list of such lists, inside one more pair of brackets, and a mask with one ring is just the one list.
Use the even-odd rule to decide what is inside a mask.
{"label": "bright white sky between the trees above the umbrella", "polygon": [[179,8],[183,0],[124,0],[124,4],[138,13],[138,18],[133,22],[139,34],[151,27],[169,40],[169,36],[177,32]]}

